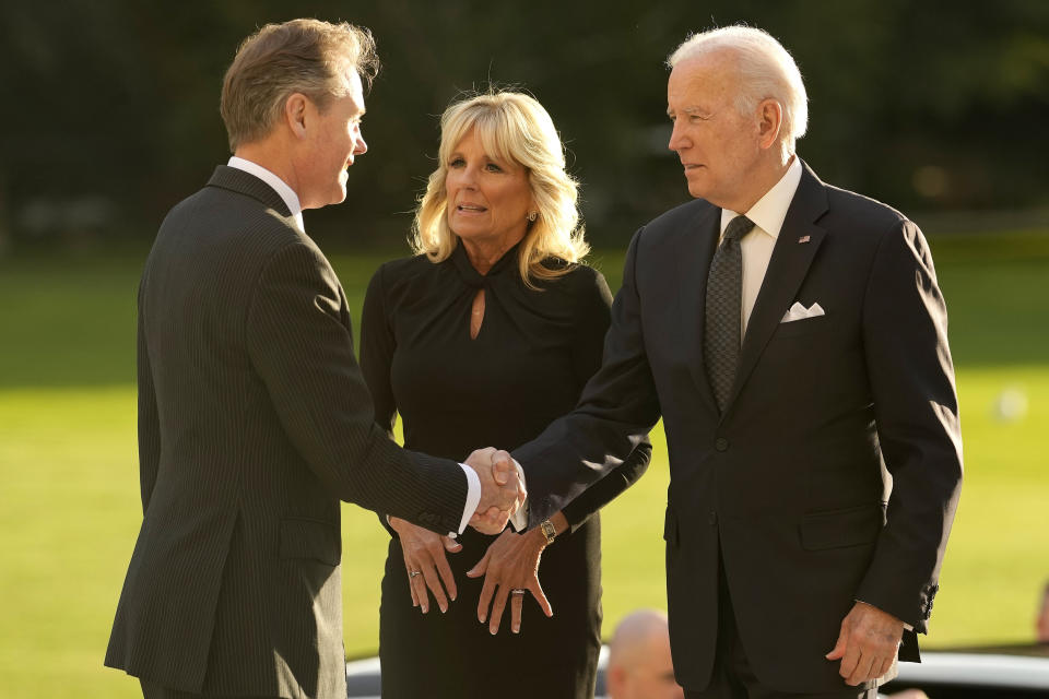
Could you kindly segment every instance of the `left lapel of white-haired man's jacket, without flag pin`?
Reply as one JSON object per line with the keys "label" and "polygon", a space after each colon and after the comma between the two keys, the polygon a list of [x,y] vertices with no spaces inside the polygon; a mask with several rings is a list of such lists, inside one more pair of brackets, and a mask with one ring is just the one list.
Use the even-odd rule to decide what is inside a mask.
{"label": "left lapel of white-haired man's jacket, without flag pin", "polygon": [[720,224],[721,210],[717,206],[707,208],[686,227],[675,250],[677,279],[681,284],[681,323],[685,329],[684,337],[687,343],[686,356],[698,358],[692,363],[692,376],[704,400],[715,413],[718,405],[710,389],[710,379],[707,378],[703,329],[706,323],[707,274],[721,233]]}

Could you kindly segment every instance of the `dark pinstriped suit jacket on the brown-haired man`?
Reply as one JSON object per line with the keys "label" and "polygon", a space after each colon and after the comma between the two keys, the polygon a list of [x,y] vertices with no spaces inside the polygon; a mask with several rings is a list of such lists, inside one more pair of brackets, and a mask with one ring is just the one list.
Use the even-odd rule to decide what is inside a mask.
{"label": "dark pinstriped suit jacket on the brown-haired man", "polygon": [[456,530],[461,469],[375,426],[334,272],[241,170],[220,166],[161,226],[138,356],[144,517],[106,664],[343,699],[340,499]]}

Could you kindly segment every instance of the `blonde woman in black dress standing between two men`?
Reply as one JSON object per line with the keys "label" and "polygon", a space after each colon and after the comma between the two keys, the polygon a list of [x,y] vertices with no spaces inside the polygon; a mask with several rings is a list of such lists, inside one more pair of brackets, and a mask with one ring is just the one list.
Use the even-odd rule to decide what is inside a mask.
{"label": "blonde woman in black dress standing between two men", "polygon": [[[611,294],[581,263],[576,182],[535,99],[503,92],[452,105],[438,157],[416,212],[417,254],[384,264],[368,286],[361,365],[384,428],[399,414],[405,447],[460,459],[478,445],[517,447],[571,410],[601,365]],[[592,697],[597,510],[649,453],[639,447],[547,533],[452,541],[384,517],[382,696]]]}

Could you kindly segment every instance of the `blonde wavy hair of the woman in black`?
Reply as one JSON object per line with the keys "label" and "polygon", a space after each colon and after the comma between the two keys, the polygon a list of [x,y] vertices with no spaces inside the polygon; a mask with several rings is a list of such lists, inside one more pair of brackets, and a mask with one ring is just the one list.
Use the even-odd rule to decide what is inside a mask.
{"label": "blonde wavy hair of the woman in black", "polygon": [[547,266],[547,258],[578,263],[590,251],[579,224],[578,183],[565,171],[565,150],[554,122],[533,97],[517,92],[491,92],[456,102],[440,117],[437,169],[419,200],[412,226],[412,248],[432,262],[441,262],[459,245],[448,227],[445,178],[451,153],[475,130],[491,157],[517,163],[528,170],[528,183],[539,212],[521,241],[518,271],[524,284],[552,280],[570,266]]}

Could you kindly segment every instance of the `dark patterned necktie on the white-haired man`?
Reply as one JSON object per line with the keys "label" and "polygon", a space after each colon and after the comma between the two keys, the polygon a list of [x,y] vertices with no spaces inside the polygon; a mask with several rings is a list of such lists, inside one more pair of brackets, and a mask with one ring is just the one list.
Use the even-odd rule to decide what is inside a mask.
{"label": "dark patterned necktie on the white-haired man", "polygon": [[724,229],[707,276],[706,329],[703,334],[707,376],[724,412],[740,363],[740,328],[743,324],[743,252],[740,240],[754,228],[746,216],[736,216]]}

